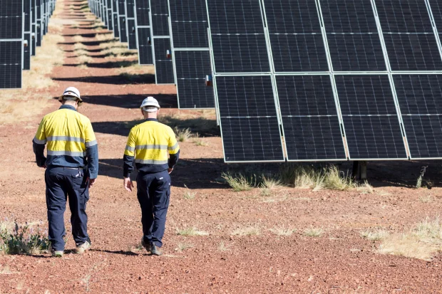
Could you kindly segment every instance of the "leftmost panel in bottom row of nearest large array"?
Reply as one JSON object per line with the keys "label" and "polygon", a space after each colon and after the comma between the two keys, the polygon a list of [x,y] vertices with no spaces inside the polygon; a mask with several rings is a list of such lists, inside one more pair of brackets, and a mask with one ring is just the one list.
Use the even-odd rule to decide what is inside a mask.
{"label": "leftmost panel in bottom row of nearest large array", "polygon": [[284,160],[272,80],[216,77],[226,162]]}

